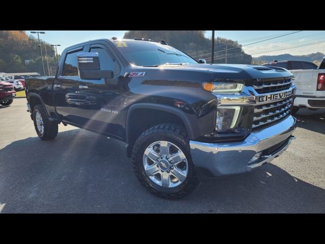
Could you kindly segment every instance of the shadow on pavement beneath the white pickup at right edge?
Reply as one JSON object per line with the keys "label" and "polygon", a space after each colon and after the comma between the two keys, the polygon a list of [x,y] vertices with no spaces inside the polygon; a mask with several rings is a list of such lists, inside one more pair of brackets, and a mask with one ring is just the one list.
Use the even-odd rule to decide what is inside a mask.
{"label": "shadow on pavement beneath the white pickup at right edge", "polygon": [[303,108],[294,116],[297,118],[297,127],[325,134],[325,109],[311,111]]}

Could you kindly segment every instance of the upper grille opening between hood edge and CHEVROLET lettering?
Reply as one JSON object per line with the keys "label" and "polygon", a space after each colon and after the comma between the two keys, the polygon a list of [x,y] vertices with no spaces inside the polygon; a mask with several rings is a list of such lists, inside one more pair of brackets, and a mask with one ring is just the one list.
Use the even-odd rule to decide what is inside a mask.
{"label": "upper grille opening between hood edge and CHEVROLET lettering", "polygon": [[292,82],[291,78],[256,80],[252,87],[258,94],[274,93],[288,89]]}

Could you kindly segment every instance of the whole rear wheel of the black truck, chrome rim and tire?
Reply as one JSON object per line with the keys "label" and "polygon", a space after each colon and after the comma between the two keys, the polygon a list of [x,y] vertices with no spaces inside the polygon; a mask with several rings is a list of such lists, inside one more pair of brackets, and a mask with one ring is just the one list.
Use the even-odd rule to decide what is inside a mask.
{"label": "whole rear wheel of the black truck, chrome rim and tire", "polygon": [[56,137],[58,124],[49,120],[48,115],[41,104],[34,107],[32,117],[36,133],[42,140],[50,140]]}

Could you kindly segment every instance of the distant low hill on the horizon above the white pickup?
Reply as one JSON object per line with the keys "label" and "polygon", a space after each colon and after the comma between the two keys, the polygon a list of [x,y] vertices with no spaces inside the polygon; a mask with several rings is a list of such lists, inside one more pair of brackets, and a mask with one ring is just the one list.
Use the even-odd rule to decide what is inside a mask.
{"label": "distant low hill on the horizon above the white pickup", "polygon": [[291,55],[291,54],[281,54],[281,55],[264,55],[259,57],[254,57],[253,60],[256,60],[256,63],[267,63],[272,62],[274,60],[283,61],[283,60],[301,60],[301,61],[309,61],[309,62],[320,62],[322,58],[325,56],[324,53],[316,52],[310,53],[307,55]]}

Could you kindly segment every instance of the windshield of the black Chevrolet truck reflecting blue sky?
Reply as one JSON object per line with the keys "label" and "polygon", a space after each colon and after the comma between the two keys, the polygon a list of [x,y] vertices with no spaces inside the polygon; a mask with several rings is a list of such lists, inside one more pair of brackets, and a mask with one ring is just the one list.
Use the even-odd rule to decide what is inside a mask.
{"label": "windshield of the black Chevrolet truck reflecting blue sky", "polygon": [[129,63],[136,66],[160,66],[169,64],[198,64],[185,53],[156,42],[114,40]]}

